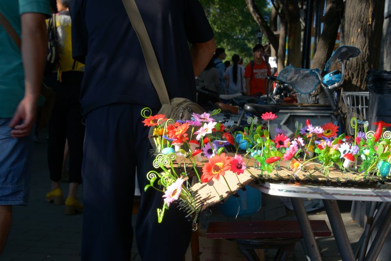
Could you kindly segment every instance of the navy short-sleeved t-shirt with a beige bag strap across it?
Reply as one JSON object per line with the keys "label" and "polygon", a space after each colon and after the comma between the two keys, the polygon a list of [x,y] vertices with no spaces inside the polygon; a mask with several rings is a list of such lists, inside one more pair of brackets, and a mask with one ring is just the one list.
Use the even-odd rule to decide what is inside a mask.
{"label": "navy short-sleeved t-shirt with a beige bag strap across it", "polygon": [[[122,0],[72,0],[72,56],[84,62],[83,114],[115,103],[161,107]],[[170,98],[194,100],[190,43],[213,32],[198,0],[136,0]]]}

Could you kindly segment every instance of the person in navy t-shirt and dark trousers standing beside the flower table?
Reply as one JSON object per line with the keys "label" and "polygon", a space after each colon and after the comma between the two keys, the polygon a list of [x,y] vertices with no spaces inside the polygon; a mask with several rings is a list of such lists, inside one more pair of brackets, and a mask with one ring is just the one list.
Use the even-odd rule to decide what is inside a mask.
{"label": "person in navy t-shirt and dark trousers standing beside the flower table", "polygon": [[[185,213],[144,192],[153,158],[140,111],[160,109],[137,36],[121,0],[72,0],[72,55],[85,63],[86,117],[82,260],[130,260],[135,169],[141,190],[135,233],[144,261],[180,261],[191,236]],[[195,76],[216,49],[198,0],[136,0],[170,98],[194,100]],[[190,43],[190,44],[189,44]],[[190,47],[189,47],[190,46]]]}

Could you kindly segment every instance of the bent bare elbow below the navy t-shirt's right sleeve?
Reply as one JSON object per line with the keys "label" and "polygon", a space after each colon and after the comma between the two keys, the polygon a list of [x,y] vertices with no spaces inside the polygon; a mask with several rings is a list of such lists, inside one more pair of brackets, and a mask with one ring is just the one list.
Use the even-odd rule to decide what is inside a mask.
{"label": "bent bare elbow below the navy t-shirt's right sleeve", "polygon": [[190,56],[192,58],[194,76],[198,76],[208,65],[216,50],[215,39],[206,43],[194,43],[190,47]]}

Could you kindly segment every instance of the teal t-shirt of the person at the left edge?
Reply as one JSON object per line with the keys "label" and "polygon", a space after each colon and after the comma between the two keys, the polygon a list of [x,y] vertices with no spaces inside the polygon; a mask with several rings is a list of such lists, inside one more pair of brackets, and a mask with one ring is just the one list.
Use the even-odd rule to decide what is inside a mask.
{"label": "teal t-shirt of the person at the left edge", "polygon": [[[21,15],[50,15],[49,0],[0,0],[0,12],[21,36]],[[24,96],[21,50],[0,25],[0,118],[12,117]]]}

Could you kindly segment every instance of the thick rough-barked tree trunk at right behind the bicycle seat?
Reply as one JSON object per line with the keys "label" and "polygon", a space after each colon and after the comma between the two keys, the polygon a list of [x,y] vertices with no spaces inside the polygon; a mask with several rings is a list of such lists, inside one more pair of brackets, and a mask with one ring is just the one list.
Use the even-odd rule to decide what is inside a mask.
{"label": "thick rough-barked tree trunk at right behind the bicycle seat", "polygon": [[345,44],[361,53],[346,66],[344,89],[367,88],[365,79],[370,69],[378,69],[384,22],[385,0],[347,0],[345,9]]}

